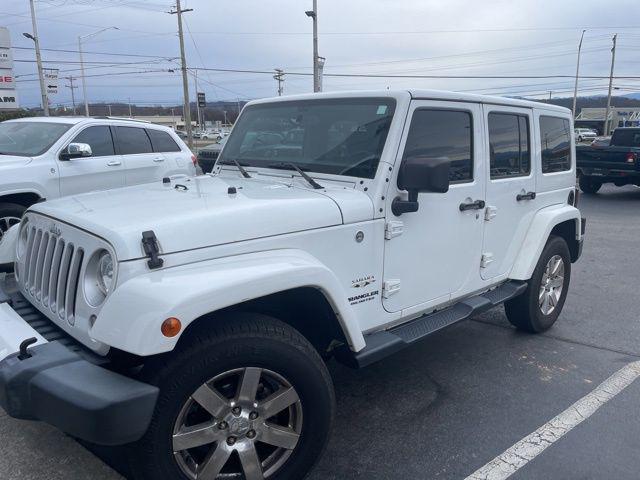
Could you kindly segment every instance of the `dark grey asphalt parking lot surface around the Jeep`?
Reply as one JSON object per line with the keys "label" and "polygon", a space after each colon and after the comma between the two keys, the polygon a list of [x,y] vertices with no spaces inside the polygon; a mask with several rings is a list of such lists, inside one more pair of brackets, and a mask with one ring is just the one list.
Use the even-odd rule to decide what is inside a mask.
{"label": "dark grey asphalt parking lot surface around the Jeep", "polygon": [[[582,196],[587,240],[557,325],[516,332],[502,308],[364,370],[331,364],[338,417],[312,480],[459,479],[640,360],[640,189]],[[516,479],[637,479],[640,379]],[[122,478],[117,458],[0,411],[0,478]]]}

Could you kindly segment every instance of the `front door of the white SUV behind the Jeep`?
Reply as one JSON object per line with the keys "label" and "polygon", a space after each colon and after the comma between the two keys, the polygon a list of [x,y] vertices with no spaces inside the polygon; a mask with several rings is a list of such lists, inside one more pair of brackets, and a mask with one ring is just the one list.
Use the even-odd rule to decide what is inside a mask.
{"label": "front door of the white SUV behind the Jeep", "polygon": [[125,165],[115,153],[108,125],[87,127],[69,143],[88,144],[92,155],[71,160],[58,158],[62,196],[125,186]]}

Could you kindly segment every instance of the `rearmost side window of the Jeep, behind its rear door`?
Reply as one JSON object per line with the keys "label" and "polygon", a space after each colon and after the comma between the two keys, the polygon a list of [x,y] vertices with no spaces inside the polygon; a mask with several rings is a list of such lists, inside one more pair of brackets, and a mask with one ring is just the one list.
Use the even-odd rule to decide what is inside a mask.
{"label": "rearmost side window of the Jeep, behind its rear door", "polygon": [[559,117],[540,117],[540,148],[542,173],[571,170],[569,120]]}

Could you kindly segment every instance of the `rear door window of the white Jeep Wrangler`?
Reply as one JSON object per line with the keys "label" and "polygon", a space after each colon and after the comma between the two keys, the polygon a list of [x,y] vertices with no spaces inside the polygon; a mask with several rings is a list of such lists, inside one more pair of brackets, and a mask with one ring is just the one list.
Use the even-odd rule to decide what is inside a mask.
{"label": "rear door window of the white Jeep Wrangler", "polygon": [[490,113],[488,123],[491,179],[529,175],[529,118]]}

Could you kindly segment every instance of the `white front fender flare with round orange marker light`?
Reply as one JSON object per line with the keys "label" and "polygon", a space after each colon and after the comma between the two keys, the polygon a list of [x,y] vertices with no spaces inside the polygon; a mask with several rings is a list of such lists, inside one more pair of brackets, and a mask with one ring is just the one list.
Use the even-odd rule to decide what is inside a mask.
{"label": "white front fender flare with round orange marker light", "polygon": [[[335,274],[301,250],[249,253],[147,272],[113,291],[90,331],[96,341],[140,356],[173,350],[196,319],[220,309],[298,287],[322,291],[354,351],[365,346],[357,317]],[[164,337],[176,317],[180,335]]]}

